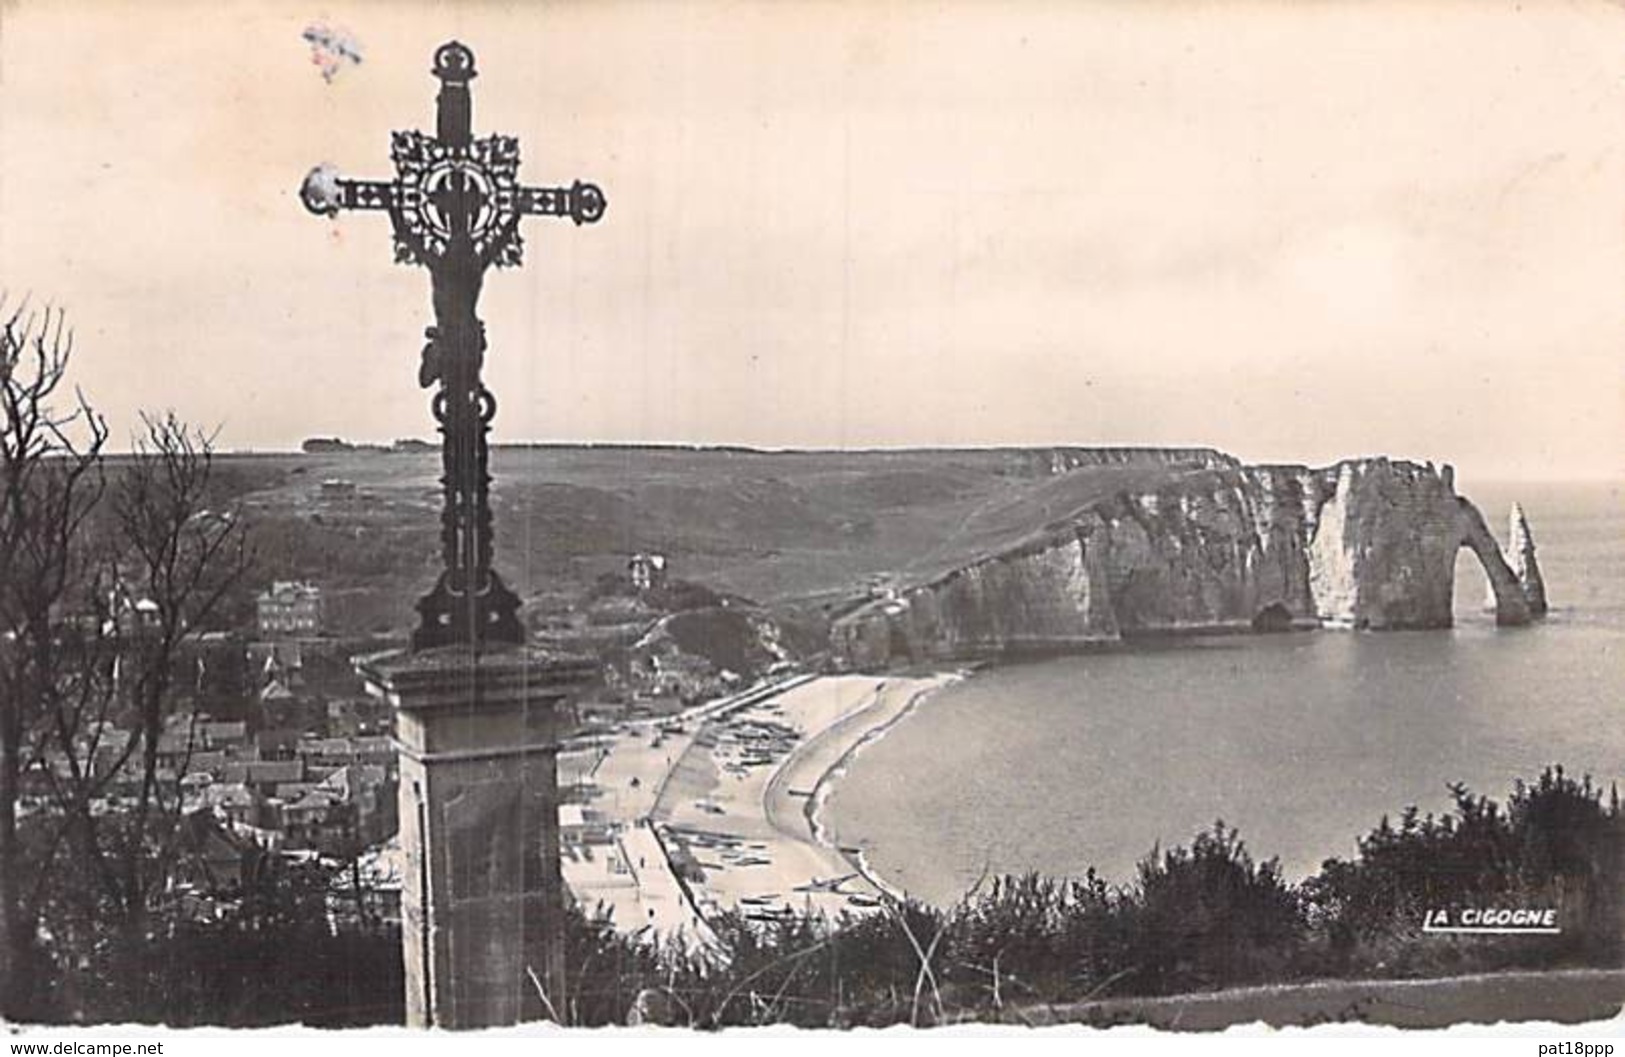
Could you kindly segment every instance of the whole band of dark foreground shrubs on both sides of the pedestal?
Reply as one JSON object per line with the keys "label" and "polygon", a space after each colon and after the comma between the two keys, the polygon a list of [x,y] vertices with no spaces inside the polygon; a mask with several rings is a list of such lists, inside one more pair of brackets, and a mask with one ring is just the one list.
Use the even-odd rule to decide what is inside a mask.
{"label": "whole band of dark foreground shrubs on both sides of the pedestal", "polygon": [[[572,911],[561,1015],[694,1028],[941,1024],[1326,976],[1622,964],[1617,795],[1604,802],[1589,779],[1555,768],[1518,784],[1505,807],[1453,792],[1450,813],[1383,820],[1355,859],[1328,860],[1298,886],[1220,823],[1190,847],[1152,852],[1120,888],[1094,873],[1027,875],[952,907],[908,901],[866,917],[767,924],[723,916],[704,953]],[[54,1018],[400,1023],[398,930],[333,935],[328,885],[323,872],[278,875],[226,920],[172,919],[140,942],[101,937],[73,963],[58,956]],[[1428,911],[1545,906],[1560,916],[1555,937],[1422,930]]]}

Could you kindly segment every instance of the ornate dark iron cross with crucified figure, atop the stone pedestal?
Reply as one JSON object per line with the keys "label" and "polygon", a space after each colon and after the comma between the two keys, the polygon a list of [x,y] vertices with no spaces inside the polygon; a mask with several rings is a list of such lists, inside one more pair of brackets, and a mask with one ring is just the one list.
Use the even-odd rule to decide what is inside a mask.
{"label": "ornate dark iron cross with crucified figure, atop the stone pedestal", "polygon": [[491,473],[486,434],[497,402],[479,382],[486,327],[474,314],[486,268],[520,263],[518,221],[526,215],[569,216],[577,224],[604,215],[593,184],[522,187],[518,140],[474,138],[474,54],[452,41],[434,52],[436,135],[396,132],[393,181],[349,181],[312,169],[301,198],[312,213],[384,210],[395,229],[395,260],[429,270],[434,325],[424,332],[418,384],[439,384],[431,402],[440,423],[445,506],[440,514],[444,569],[418,600],[413,649],[466,642],[522,642],[518,598],[491,568]]}

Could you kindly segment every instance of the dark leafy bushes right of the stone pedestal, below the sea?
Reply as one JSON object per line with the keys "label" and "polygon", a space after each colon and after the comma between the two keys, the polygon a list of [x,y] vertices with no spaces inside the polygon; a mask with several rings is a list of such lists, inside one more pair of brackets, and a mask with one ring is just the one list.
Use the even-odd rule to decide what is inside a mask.
{"label": "dark leafy bushes right of the stone pedestal, below the sea", "polygon": [[[1454,787],[1445,816],[1383,820],[1349,862],[1289,885],[1222,823],[1154,852],[1123,888],[998,878],[947,909],[900,903],[837,922],[717,922],[720,950],[674,958],[587,922],[577,1023],[697,1028],[934,1024],[1022,1007],[1326,976],[1443,976],[1618,966],[1625,818],[1589,781],[1549,769],[1505,808]],[[1557,937],[1424,933],[1427,911],[1552,907]],[[616,953],[608,953],[616,951]],[[601,976],[592,964],[616,964]],[[626,976],[622,966],[635,966]],[[627,997],[630,1005],[622,1008]],[[640,998],[639,998],[640,995]]]}

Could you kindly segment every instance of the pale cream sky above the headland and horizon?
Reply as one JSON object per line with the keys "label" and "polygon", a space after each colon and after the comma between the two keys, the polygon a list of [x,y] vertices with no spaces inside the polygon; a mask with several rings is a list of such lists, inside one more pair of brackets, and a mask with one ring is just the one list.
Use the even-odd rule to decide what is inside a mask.
{"label": "pale cream sky above the headland and horizon", "polygon": [[1625,10],[1558,2],[0,0],[0,288],[120,434],[432,436],[427,275],[297,187],[393,176],[450,37],[609,198],[486,281],[497,441],[1625,475]]}

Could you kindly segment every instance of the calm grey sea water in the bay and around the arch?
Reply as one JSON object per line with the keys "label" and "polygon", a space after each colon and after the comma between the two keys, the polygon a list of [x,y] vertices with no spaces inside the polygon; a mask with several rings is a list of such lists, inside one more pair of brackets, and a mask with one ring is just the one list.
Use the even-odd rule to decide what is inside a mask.
{"label": "calm grey sea water in the bay and around the arch", "polygon": [[1450,631],[1227,636],[996,665],[864,748],[826,821],[887,881],[1128,881],[1222,820],[1292,880],[1451,782],[1497,800],[1547,764],[1625,792],[1625,485],[1479,486],[1523,502],[1552,615],[1497,629],[1462,551]]}

